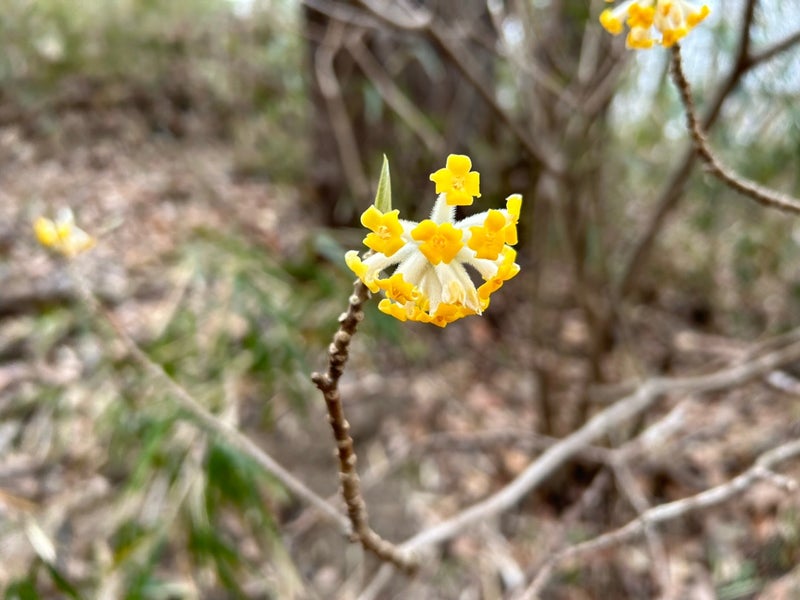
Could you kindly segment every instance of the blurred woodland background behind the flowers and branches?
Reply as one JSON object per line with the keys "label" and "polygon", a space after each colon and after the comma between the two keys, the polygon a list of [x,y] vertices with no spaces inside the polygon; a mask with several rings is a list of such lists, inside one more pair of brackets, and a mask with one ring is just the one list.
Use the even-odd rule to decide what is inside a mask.
{"label": "blurred woodland background behind the flowers and branches", "polygon": [[[708,4],[683,55],[711,144],[797,196],[800,2]],[[481,210],[523,194],[522,272],[485,317],[440,330],[372,303],[354,341],[345,407],[371,517],[394,540],[508,483],[625,382],[704,372],[796,327],[796,218],[704,174],[669,53],[626,51],[597,22],[605,6],[5,0],[4,597],[355,598],[377,567],[203,435],[81,305],[31,233],[59,207],[98,238],[76,268],[152,360],[338,502],[309,373],[351,293],[343,255],[361,247],[382,155],[415,220],[448,153],[472,157]],[[604,444],[680,406],[629,465],[648,502],[674,500],[796,437],[796,389],[670,398]],[[555,549],[635,517],[618,487],[576,459],[381,597],[511,597]],[[797,511],[767,488],[664,528],[675,597],[797,597]],[[658,593],[643,542],[547,589]]]}

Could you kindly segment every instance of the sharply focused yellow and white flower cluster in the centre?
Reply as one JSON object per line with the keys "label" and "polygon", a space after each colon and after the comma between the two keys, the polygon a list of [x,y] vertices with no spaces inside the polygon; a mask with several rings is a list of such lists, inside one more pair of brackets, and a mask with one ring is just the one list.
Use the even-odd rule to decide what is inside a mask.
{"label": "sharply focused yellow and white flower cluster in the centre", "polygon": [[[361,215],[371,231],[364,245],[372,252],[362,258],[351,250],[345,261],[370,291],[384,293],[378,305],[382,312],[444,327],[481,314],[489,297],[519,272],[511,245],[517,243],[522,196],[509,196],[505,209],[455,219],[456,206],[469,206],[480,196],[479,175],[471,168],[466,156],[447,158],[447,166],[431,175],[439,194],[431,216],[419,223],[375,206]],[[466,266],[483,280],[479,287]],[[387,276],[384,272],[392,267]]]}

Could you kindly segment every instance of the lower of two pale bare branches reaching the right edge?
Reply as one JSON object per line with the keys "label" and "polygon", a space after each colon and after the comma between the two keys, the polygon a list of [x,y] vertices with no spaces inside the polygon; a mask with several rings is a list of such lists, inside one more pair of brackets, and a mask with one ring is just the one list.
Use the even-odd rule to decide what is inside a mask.
{"label": "lower of two pale bare branches reaching the right edge", "polygon": [[782,444],[762,454],[753,466],[726,483],[707,489],[694,496],[689,496],[688,498],[682,498],[675,502],[655,506],[642,513],[638,519],[631,521],[624,527],[620,527],[619,529],[605,533],[581,544],[576,544],[559,552],[556,556],[547,561],[530,587],[526,590],[525,594],[522,595],[519,600],[533,600],[537,598],[547,584],[555,568],[563,562],[570,559],[594,555],[601,550],[630,541],[641,535],[649,526],[672,521],[690,512],[704,510],[727,502],[747,491],[759,481],[764,480],[766,473],[771,472],[775,466],[796,456],[800,456],[800,440]]}

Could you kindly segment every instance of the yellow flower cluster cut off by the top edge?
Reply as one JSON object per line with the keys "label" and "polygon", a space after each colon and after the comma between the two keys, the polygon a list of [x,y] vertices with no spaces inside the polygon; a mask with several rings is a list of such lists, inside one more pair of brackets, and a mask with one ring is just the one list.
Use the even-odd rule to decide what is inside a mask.
{"label": "yellow flower cluster cut off by the top edge", "polygon": [[[655,43],[669,48],[694,29],[708,13],[705,4],[698,8],[684,0],[628,0],[616,8],[604,10],[600,24],[613,35],[622,33],[623,23],[627,24],[629,31],[625,41],[628,48],[652,48]],[[654,29],[661,34],[660,40],[652,37]]]}

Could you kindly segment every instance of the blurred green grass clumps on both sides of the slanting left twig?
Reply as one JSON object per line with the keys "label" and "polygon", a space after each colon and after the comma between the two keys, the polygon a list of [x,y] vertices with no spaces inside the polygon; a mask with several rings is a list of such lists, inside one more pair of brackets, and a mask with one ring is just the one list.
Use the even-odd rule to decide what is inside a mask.
{"label": "blurred green grass clumps on both sides of the slanting left twig", "polygon": [[[246,429],[252,432],[270,429],[276,395],[302,409],[314,397],[309,365],[319,360],[318,352],[308,352],[321,347],[321,338],[335,326],[332,296],[341,289],[340,274],[324,265],[281,265],[241,238],[219,232],[201,232],[184,249],[181,264],[191,273],[187,302],[147,344],[148,354],[222,418],[237,405],[260,415],[255,421],[248,418]],[[293,272],[303,273],[305,281]],[[311,283],[315,281],[320,285]],[[309,319],[312,314],[316,318]],[[117,368],[130,381],[121,390],[128,401],[115,404],[109,415],[110,468],[125,479],[131,494],[152,489],[163,478],[174,488],[186,476],[186,465],[196,460],[192,453],[197,452],[198,437],[181,429],[178,411],[169,398],[159,398],[161,393],[151,387],[154,382],[137,383],[136,373],[129,373],[133,366]],[[234,393],[243,393],[243,398],[225,397],[230,381],[237,382]],[[135,454],[132,447],[138,449]],[[190,496],[182,506],[178,522],[183,527],[156,522],[142,528],[136,520],[120,531],[117,561],[122,566],[133,560],[133,571],[125,568],[131,578],[128,598],[154,597],[159,583],[153,569],[174,543],[186,544],[198,569],[210,567],[230,597],[247,597],[241,588],[242,570],[248,568],[240,550],[244,532],[261,548],[262,557],[280,545],[273,511],[289,502],[281,486],[218,442],[203,442],[202,447],[201,489],[187,491],[199,496]],[[239,522],[234,530],[232,519]],[[185,540],[178,542],[180,531]],[[148,549],[144,562],[136,559],[142,546]]]}

